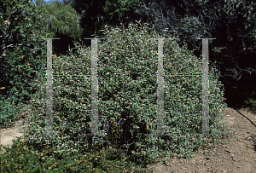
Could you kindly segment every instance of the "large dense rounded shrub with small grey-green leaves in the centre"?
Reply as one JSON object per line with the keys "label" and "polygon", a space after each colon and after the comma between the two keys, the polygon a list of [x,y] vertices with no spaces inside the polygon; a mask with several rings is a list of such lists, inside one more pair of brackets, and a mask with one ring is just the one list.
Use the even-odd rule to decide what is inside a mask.
{"label": "large dense rounded shrub with small grey-green leaves in the centre", "polygon": [[[108,28],[105,40],[97,43],[98,60],[98,127],[101,136],[90,133],[90,78],[54,78],[54,130],[57,137],[42,140],[45,112],[35,118],[42,125],[31,129],[31,144],[58,145],[72,150],[87,151],[101,147],[122,147],[128,141],[130,159],[148,163],[155,157],[177,154],[190,157],[196,148],[218,138],[218,125],[224,105],[224,91],[218,82],[219,73],[209,67],[208,138],[201,136],[202,73],[200,57],[186,47],[180,48],[178,37],[148,32],[147,24],[130,24],[128,28]],[[158,40],[164,40],[164,134],[149,136],[157,130]],[[79,48],[79,55],[60,56],[53,64],[57,74],[90,75],[91,48]],[[191,77],[169,74],[191,74]],[[114,122],[113,122],[114,120]],[[115,139],[111,139],[115,138]],[[118,142],[115,142],[118,141]],[[119,148],[118,148],[119,149]],[[67,150],[67,152],[68,152]]]}

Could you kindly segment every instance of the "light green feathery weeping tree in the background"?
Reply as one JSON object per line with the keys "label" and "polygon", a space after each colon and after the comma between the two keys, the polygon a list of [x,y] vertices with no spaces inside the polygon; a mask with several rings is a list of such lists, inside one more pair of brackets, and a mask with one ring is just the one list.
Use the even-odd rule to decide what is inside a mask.
{"label": "light green feathery weeping tree in the background", "polygon": [[68,44],[73,48],[73,42],[79,42],[83,29],[79,25],[79,14],[72,8],[69,1],[61,3],[60,1],[51,1],[48,3],[39,3],[38,10],[42,11],[39,15],[41,25],[46,26],[46,32],[52,33],[54,37],[61,38],[54,40],[54,54],[66,54]]}

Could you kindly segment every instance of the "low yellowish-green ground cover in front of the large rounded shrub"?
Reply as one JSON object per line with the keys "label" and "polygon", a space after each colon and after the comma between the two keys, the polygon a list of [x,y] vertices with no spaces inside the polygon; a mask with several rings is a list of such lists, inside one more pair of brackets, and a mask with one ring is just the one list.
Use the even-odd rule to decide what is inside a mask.
{"label": "low yellowish-green ground cover in front of the large rounded shrub", "polygon": [[[18,137],[12,147],[0,146],[1,172],[152,172],[136,164],[114,158],[115,149],[100,153],[60,153],[56,147],[44,147],[41,152],[26,146]],[[5,150],[3,152],[3,149]],[[106,156],[112,157],[106,159]]]}

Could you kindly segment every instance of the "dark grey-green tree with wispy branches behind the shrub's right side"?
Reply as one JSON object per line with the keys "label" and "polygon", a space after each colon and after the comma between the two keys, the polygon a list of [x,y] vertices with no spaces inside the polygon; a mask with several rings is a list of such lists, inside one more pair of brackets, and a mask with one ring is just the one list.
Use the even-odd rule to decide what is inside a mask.
{"label": "dark grey-green tree with wispy branches behind the shrub's right side", "polygon": [[[209,41],[210,63],[218,62],[229,106],[250,102],[249,107],[256,107],[255,1],[142,0],[135,7],[138,14],[148,16],[148,23],[157,32],[178,33],[180,46],[188,43],[197,57],[201,55],[201,40],[195,38],[215,37]],[[250,101],[243,101],[247,99]]]}

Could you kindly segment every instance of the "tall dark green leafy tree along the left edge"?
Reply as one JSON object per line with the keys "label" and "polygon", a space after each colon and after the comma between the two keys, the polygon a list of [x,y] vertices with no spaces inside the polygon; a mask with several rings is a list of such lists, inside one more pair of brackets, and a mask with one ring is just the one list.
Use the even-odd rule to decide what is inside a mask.
{"label": "tall dark green leafy tree along the left edge", "polygon": [[[40,12],[29,0],[6,0],[0,3],[0,80],[1,98],[18,103],[27,101],[36,91],[33,81],[45,61],[44,28],[39,27]],[[38,28],[33,27],[38,26]],[[44,57],[44,56],[43,56]]]}

